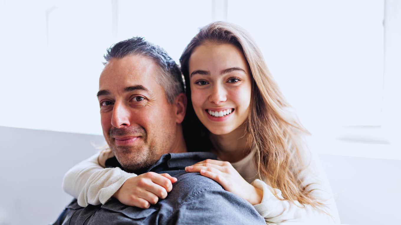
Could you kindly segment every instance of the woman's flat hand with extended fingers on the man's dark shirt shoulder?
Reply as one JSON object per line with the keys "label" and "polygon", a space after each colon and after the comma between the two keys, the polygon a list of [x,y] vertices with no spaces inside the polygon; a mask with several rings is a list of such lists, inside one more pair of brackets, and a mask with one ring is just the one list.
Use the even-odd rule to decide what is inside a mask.
{"label": "woman's flat hand with extended fingers on the man's dark shirt shoulder", "polygon": [[242,197],[252,205],[261,203],[263,191],[245,181],[229,162],[207,159],[185,167],[187,172],[198,172],[219,183],[224,190]]}

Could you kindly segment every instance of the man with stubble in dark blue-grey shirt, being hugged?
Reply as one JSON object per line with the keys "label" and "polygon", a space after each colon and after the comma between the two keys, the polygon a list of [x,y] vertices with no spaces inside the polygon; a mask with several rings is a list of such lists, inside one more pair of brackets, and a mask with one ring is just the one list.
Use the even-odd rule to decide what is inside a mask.
{"label": "man with stubble in dark blue-grey shirt, being hugged", "polygon": [[244,199],[198,173],[185,173],[185,166],[215,156],[186,150],[181,126],[186,97],[174,60],[138,37],[115,44],[105,59],[97,97],[103,135],[115,155],[106,167],[174,184],[166,187],[167,197],[150,196],[160,197],[158,202],[131,199],[142,200],[146,209],[124,205],[129,200],[119,195],[121,189],[113,195],[120,201],[112,198],[104,205],[83,208],[75,200],[55,224],[265,224]]}

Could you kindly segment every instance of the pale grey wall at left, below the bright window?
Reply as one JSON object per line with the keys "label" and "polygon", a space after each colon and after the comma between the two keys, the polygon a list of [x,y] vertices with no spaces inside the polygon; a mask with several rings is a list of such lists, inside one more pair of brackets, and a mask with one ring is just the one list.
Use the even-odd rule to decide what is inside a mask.
{"label": "pale grey wall at left, below the bright window", "polygon": [[0,127],[0,225],[49,224],[72,197],[65,172],[96,153],[102,136]]}

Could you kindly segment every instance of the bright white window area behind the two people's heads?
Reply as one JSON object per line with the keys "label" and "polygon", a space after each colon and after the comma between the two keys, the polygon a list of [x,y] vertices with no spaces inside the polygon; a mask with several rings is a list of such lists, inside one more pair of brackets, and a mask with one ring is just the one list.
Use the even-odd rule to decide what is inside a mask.
{"label": "bright white window area behind the two people's heads", "polygon": [[[400,111],[400,91],[391,86],[400,71],[391,62],[400,61],[400,53],[385,51],[400,49],[400,40],[385,35],[399,35],[398,1],[0,4],[0,126],[101,135],[95,93],[106,48],[144,36],[178,62],[199,27],[227,20],[255,38],[317,151],[401,159],[394,113]],[[398,11],[391,16],[390,10]],[[371,151],[341,153],[327,142],[369,145]],[[377,154],[379,148],[385,151]]]}

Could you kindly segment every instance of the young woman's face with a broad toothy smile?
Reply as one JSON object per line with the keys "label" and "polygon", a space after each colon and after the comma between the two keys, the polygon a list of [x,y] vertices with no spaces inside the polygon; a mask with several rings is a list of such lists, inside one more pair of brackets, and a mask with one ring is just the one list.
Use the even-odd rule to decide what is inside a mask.
{"label": "young woman's face with a broad toothy smile", "polygon": [[196,116],[215,135],[231,133],[248,117],[251,74],[233,44],[205,42],[189,59],[191,100]]}

